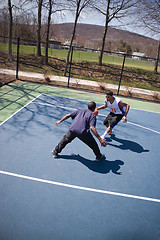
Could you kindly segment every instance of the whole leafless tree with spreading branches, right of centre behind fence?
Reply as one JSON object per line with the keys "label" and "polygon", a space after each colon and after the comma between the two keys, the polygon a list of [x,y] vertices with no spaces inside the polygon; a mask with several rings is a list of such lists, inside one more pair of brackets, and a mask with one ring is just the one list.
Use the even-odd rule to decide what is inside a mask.
{"label": "whole leafless tree with spreading branches, right of centre behind fence", "polygon": [[96,9],[99,13],[105,17],[105,26],[102,36],[102,46],[99,55],[98,64],[102,65],[106,35],[108,30],[108,25],[113,19],[120,19],[125,17],[129,9],[136,4],[136,0],[99,0],[94,1],[92,8]]}

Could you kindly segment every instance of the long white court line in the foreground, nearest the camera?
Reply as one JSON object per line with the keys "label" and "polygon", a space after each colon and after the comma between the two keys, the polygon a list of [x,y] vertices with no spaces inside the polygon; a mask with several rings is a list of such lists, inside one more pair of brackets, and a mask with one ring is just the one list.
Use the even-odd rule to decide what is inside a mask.
{"label": "long white court line in the foreground, nearest the camera", "polygon": [[114,195],[114,196],[119,196],[119,197],[126,197],[126,198],[160,203],[160,199],[156,199],[156,198],[141,197],[141,196],[130,195],[130,194],[125,194],[125,193],[118,193],[118,192],[111,192],[111,191],[100,190],[100,189],[95,189],[95,188],[81,187],[81,186],[76,186],[76,185],[71,185],[71,184],[66,184],[66,183],[61,183],[61,182],[45,180],[45,179],[41,179],[41,178],[29,177],[29,176],[16,174],[16,173],[12,173],[12,172],[1,171],[1,170],[0,170],[0,174],[17,177],[17,178],[22,178],[22,179],[26,179],[26,180],[31,180],[31,181],[36,181],[36,182],[41,182],[41,183],[47,183],[47,184],[52,184],[52,185],[57,185],[57,186],[62,186],[62,187],[68,187],[68,188],[72,188],[72,189],[83,190],[83,191],[103,193],[103,194]]}

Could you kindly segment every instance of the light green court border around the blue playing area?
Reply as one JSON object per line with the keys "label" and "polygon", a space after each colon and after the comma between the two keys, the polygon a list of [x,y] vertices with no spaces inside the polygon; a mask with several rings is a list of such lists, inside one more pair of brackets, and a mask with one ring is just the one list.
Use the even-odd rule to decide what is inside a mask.
{"label": "light green court border around the blue playing area", "polygon": [[[64,87],[16,81],[0,88],[0,123],[43,93],[97,103],[104,103],[105,100],[105,95],[102,93],[89,93]],[[158,103],[120,98],[129,103],[131,108],[160,113],[160,104]]]}

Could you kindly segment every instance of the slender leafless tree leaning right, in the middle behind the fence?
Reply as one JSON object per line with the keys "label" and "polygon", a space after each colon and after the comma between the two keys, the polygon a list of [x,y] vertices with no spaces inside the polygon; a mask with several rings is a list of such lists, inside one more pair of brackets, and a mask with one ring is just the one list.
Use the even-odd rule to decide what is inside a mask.
{"label": "slender leafless tree leaning right, in the middle behind the fence", "polygon": [[79,18],[79,16],[80,16],[82,10],[83,10],[85,7],[87,7],[90,2],[91,2],[91,0],[67,0],[68,6],[71,7],[71,9],[74,9],[74,12],[75,12],[75,20],[74,20],[73,32],[72,32],[72,36],[71,36],[71,40],[70,40],[70,45],[69,45],[69,49],[68,49],[68,54],[67,54],[67,59],[66,59],[64,76],[66,76],[66,73],[67,73],[67,68],[68,68],[68,64],[69,64],[69,58],[70,58],[70,54],[71,54],[71,49],[72,49],[72,45],[73,45],[73,40],[74,40],[75,33],[76,33],[76,27],[77,27],[78,18]]}

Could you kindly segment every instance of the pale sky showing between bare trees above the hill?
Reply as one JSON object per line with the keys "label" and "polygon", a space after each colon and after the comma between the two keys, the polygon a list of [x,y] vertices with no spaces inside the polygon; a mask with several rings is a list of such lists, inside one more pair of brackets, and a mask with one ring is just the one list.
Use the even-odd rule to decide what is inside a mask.
{"label": "pale sky showing between bare trees above the hill", "polygon": [[[74,1],[74,0],[73,0]],[[76,0],[75,0],[76,1]],[[103,1],[107,1],[107,0],[103,0]],[[8,1],[7,0],[0,0],[0,9],[7,9],[8,7]],[[25,4],[23,4],[23,9],[27,10],[28,12],[33,12],[35,14],[35,16],[37,15],[37,9],[36,9],[36,2],[37,0],[12,0],[12,4],[15,6],[14,7],[14,11],[13,13],[16,15],[18,14],[19,10],[19,6],[21,3],[25,2]],[[44,0],[44,2],[47,2],[47,0]],[[68,22],[74,22],[75,20],[75,12],[71,11],[71,9],[66,10],[64,6],[64,2],[65,4],[67,4],[67,0],[54,0],[55,2],[55,9],[56,9],[56,4],[61,2],[61,11],[57,11],[54,14],[52,14],[51,17],[51,23],[68,23]],[[69,1],[68,1],[69,2]],[[154,6],[154,3],[156,3],[156,7],[155,9],[153,9],[153,12],[155,12],[157,15],[160,16],[160,0],[139,0],[139,3],[141,3],[141,6],[143,7],[143,4],[150,4],[149,8],[151,9],[152,6]],[[66,6],[66,5],[65,5]],[[159,8],[157,8],[157,6]],[[149,9],[148,8],[148,9]],[[144,10],[144,7],[143,7]],[[148,11],[147,8],[145,9],[145,11]],[[42,20],[45,21],[45,9],[42,11]],[[139,13],[133,10],[132,14],[130,14],[129,16],[126,16],[120,20],[117,20],[116,18],[114,18],[110,23],[109,26],[111,27],[115,27],[115,28],[120,28],[123,30],[127,30],[130,32],[134,32],[134,33],[138,33],[147,37],[151,37],[154,38],[156,40],[160,39],[160,32],[154,32],[152,31],[150,28],[146,27],[144,25],[144,22],[141,21],[143,20],[144,16],[148,16],[147,12],[143,12],[142,14],[142,19],[140,20],[140,15],[139,17],[137,16],[138,14],[142,14],[141,9],[139,8]],[[151,15],[151,13],[149,13]],[[148,19],[147,19],[148,20]],[[149,20],[150,23],[152,22],[152,19]],[[159,19],[158,19],[159,21]],[[100,14],[99,12],[97,12],[96,10],[89,10],[86,8],[84,9],[81,14],[80,17],[78,19],[78,23],[84,23],[84,24],[95,24],[95,25],[100,25],[100,26],[104,26],[105,25],[105,17]],[[159,22],[158,22],[159,23]]]}

